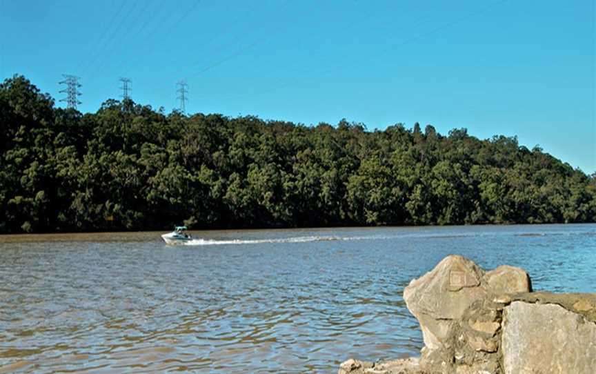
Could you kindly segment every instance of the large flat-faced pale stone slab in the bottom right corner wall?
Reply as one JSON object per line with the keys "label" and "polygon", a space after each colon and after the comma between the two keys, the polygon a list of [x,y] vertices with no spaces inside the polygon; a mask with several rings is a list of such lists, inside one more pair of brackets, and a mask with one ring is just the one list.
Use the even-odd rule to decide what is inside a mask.
{"label": "large flat-faced pale stone slab in the bottom right corner wall", "polygon": [[593,374],[596,324],[557,304],[512,302],[504,309],[505,374]]}

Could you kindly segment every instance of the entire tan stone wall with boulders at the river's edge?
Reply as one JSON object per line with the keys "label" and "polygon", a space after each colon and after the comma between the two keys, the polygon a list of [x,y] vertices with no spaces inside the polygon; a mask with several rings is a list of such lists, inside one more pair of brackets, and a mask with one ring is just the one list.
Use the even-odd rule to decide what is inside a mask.
{"label": "entire tan stone wall with boulders at the river's edge", "polygon": [[339,374],[591,374],[596,293],[532,292],[525,270],[486,272],[448,256],[404,290],[424,336],[421,357],[350,359]]}

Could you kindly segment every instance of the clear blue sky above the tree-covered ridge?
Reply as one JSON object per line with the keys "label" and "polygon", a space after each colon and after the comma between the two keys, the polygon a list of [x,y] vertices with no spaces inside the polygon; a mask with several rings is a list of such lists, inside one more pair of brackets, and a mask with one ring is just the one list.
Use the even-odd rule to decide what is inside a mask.
{"label": "clear blue sky above the tree-covered ridge", "polygon": [[[596,172],[595,0],[0,0],[0,77],[303,124],[517,135]],[[59,105],[63,103],[57,102]]]}

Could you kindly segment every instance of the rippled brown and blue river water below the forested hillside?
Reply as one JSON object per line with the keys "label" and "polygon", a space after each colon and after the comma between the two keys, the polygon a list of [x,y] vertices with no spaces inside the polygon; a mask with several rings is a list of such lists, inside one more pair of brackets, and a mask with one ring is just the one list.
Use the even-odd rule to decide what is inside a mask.
{"label": "rippled brown and blue river water below the forested hillside", "polygon": [[404,286],[450,253],[594,292],[596,225],[0,237],[0,373],[335,372],[415,355]]}

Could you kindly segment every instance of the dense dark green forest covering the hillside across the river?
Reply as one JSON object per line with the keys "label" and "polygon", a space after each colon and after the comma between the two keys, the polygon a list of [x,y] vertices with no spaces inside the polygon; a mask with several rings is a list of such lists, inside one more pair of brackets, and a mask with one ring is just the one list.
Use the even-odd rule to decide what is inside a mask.
{"label": "dense dark green forest covering the hillside across the river", "polygon": [[595,222],[596,177],[515,137],[56,108],[0,85],[0,233]]}

